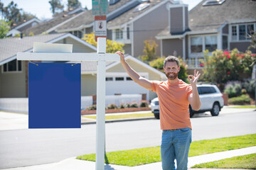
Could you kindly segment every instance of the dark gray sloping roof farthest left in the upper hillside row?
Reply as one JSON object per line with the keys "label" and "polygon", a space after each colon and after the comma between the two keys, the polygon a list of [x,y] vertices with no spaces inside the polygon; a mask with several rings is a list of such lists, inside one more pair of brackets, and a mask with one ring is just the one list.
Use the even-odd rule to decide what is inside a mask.
{"label": "dark gray sloping roof farthest left in the upper hillside row", "polygon": [[70,13],[70,11],[63,11],[62,13],[58,13],[56,16],[54,16],[49,21],[46,21],[43,23],[38,23],[36,26],[33,26],[31,28],[24,30],[23,33],[25,35],[29,35],[29,33],[31,33],[31,32],[34,35],[41,34],[43,32],[46,32],[46,30],[49,30],[50,28],[58,26],[58,24],[63,23],[64,21],[67,21],[68,19],[79,15],[80,12],[73,13],[70,15],[68,15],[68,13]]}

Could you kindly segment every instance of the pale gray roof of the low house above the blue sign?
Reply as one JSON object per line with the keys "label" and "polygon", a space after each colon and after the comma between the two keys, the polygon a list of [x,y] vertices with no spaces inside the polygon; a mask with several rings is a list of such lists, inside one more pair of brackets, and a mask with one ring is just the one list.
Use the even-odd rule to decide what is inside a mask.
{"label": "pale gray roof of the low house above the blue sign", "polygon": [[50,35],[35,35],[31,37],[21,38],[5,38],[0,39],[0,62],[14,57],[17,55],[17,52],[25,52],[27,50],[33,49],[33,42],[49,42],[55,38],[60,38],[62,35],[67,33],[60,34],[50,34]]}

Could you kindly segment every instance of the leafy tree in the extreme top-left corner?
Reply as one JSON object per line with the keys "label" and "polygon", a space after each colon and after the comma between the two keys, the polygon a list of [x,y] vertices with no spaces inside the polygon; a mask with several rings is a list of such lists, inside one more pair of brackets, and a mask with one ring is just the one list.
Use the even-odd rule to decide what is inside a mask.
{"label": "leafy tree in the extreme top-left corner", "polygon": [[35,17],[31,13],[23,11],[22,8],[18,8],[18,5],[14,4],[14,1],[11,1],[8,6],[4,6],[4,4],[0,2],[0,10],[6,22],[10,23],[10,26],[23,23]]}

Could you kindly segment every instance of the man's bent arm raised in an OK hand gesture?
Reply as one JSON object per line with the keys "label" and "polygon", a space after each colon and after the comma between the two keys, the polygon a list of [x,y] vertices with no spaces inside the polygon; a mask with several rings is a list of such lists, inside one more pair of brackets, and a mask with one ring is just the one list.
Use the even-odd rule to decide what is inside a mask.
{"label": "man's bent arm raised in an OK hand gesture", "polygon": [[191,83],[192,86],[192,94],[188,96],[188,101],[191,104],[193,110],[198,111],[201,108],[201,101],[198,94],[198,89],[196,87],[196,83],[199,79],[201,74],[196,73],[196,69],[194,71],[194,75],[188,76],[188,81]]}

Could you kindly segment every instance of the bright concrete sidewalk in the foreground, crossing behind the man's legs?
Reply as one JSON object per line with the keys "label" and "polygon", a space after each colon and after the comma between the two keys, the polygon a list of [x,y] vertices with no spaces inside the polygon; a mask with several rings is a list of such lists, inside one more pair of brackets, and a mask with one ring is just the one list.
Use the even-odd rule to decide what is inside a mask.
{"label": "bright concrete sidewalk in the foreground, crossing behind the man's legs", "polygon": [[[256,153],[256,147],[247,147],[242,149],[235,149],[225,152],[217,152],[213,154],[205,154],[196,157],[188,157],[188,168],[194,166],[196,164],[201,164],[205,162],[213,162],[220,159],[226,159],[230,157],[238,157],[245,154],[253,154]],[[94,170],[95,162],[82,161],[79,159],[69,158],[65,159],[61,162],[53,163],[53,164],[43,164],[36,166],[26,166],[20,168],[13,169],[3,169],[3,170]],[[161,162],[156,162],[152,164],[145,164],[140,166],[119,166],[112,164],[105,164],[105,170],[161,170]],[[191,169],[196,170],[196,169]],[[203,170],[203,169],[200,169]],[[228,169],[226,169],[228,170]]]}

